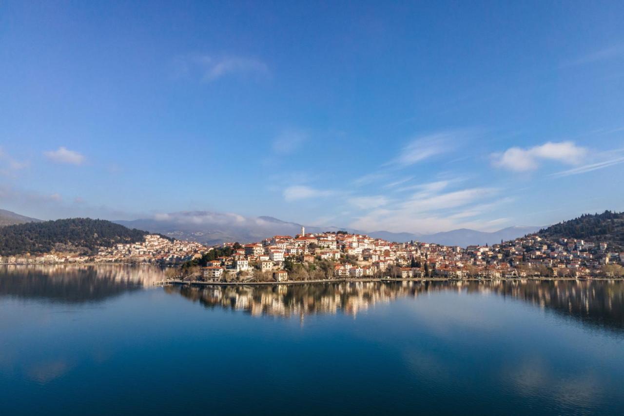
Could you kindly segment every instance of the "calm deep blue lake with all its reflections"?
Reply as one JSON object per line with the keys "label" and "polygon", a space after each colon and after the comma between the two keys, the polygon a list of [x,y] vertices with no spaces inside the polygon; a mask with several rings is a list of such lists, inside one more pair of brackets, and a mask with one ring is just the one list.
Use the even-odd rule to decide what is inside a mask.
{"label": "calm deep blue lake with all its reflections", "polygon": [[0,266],[0,414],[624,414],[624,282]]}

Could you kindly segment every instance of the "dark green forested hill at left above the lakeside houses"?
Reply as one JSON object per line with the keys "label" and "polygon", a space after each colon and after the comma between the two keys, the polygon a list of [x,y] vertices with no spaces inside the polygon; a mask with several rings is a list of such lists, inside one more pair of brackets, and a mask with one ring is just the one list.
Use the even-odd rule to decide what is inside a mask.
{"label": "dark green forested hill at left above the lakeside houses", "polygon": [[96,247],[139,242],[147,231],[107,220],[70,218],[28,222],[0,228],[0,255],[75,252],[94,254]]}

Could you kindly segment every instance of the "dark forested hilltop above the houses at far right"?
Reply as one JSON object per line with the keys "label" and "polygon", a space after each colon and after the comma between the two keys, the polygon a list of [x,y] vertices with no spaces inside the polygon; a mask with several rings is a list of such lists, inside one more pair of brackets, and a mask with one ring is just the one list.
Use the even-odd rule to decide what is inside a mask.
{"label": "dark forested hilltop above the houses at far right", "polygon": [[573,238],[607,242],[612,249],[624,250],[624,212],[605,211],[585,214],[573,220],[550,225],[539,231],[548,239]]}

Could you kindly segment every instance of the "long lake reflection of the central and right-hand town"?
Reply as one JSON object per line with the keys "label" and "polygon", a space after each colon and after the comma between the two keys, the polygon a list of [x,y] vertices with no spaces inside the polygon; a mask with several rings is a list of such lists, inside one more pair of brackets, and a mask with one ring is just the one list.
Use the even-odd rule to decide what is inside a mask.
{"label": "long lake reflection of the central and right-hand town", "polygon": [[618,280],[492,280],[447,282],[344,282],[270,286],[165,286],[165,291],[208,308],[243,310],[251,315],[303,317],[357,315],[380,302],[432,292],[497,294],[568,315],[587,324],[624,329],[624,282]]}

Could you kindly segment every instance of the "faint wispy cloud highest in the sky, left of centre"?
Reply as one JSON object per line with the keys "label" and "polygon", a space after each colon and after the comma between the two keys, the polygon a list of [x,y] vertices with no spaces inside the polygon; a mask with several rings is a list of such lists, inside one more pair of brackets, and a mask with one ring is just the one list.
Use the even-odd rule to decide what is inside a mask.
{"label": "faint wispy cloud highest in the sky, left of centre", "polygon": [[250,74],[268,76],[268,65],[248,56],[192,55],[175,60],[176,76],[195,76],[203,82],[214,82],[226,76]]}

